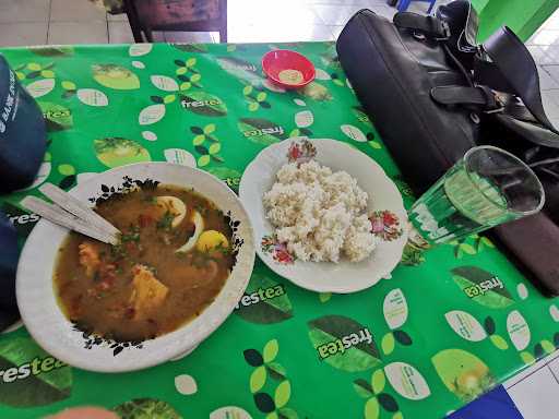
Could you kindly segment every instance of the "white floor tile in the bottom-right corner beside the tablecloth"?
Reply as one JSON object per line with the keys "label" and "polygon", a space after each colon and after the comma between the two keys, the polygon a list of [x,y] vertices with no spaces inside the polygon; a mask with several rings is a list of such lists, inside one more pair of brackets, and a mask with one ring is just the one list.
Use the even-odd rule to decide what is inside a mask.
{"label": "white floor tile in the bottom-right corner beside the tablecloth", "polygon": [[524,419],[559,417],[559,383],[547,367],[508,390]]}

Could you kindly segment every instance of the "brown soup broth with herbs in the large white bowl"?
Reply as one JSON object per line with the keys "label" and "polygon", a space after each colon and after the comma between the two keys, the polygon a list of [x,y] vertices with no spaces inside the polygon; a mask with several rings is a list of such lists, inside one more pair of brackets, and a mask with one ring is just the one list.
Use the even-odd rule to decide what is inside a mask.
{"label": "brown soup broth with herbs in the large white bowl", "polygon": [[[157,204],[157,196],[185,203],[180,224],[171,226],[173,214]],[[194,234],[194,211],[204,231],[221,232],[227,243],[177,253]],[[122,232],[121,243],[114,247],[71,232],[53,274],[59,304],[81,330],[118,342],[173,332],[199,315],[230,274],[231,229],[212,202],[191,190],[138,189],[99,203],[96,212]]]}

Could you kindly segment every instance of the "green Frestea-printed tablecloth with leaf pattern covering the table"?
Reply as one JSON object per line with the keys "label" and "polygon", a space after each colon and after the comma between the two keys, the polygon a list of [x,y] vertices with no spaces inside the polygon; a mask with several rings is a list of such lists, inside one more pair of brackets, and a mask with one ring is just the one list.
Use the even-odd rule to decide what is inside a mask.
{"label": "green Frestea-printed tablecloth with leaf pattern covering the table", "polygon": [[[266,85],[260,58],[277,47],[309,57],[317,81],[304,92]],[[263,147],[308,135],[368,154],[396,181],[406,205],[413,201],[331,43],[3,53],[48,122],[38,182],[68,189],[90,173],[151,159],[195,161],[236,189]],[[0,201],[22,242],[37,218],[19,207],[28,193],[36,189]],[[247,292],[258,302],[237,309],[194,352],[133,373],[52,367],[24,327],[0,335],[0,374],[47,359],[32,362],[28,376],[0,375],[0,417],[88,404],[120,406],[138,418],[177,417],[170,409],[213,419],[438,418],[559,346],[554,300],[480,237],[425,255],[408,249],[391,278],[354,295],[306,291],[257,261]]]}

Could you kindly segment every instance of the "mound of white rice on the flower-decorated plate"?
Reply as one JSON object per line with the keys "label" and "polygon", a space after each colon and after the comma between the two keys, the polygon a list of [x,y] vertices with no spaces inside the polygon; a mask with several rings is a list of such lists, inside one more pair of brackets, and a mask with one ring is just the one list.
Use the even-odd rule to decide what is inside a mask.
{"label": "mound of white rice on the flower-decorated plate", "polygon": [[367,199],[347,172],[310,160],[284,165],[263,204],[278,241],[292,254],[337,263],[342,256],[361,261],[377,246],[365,214]]}

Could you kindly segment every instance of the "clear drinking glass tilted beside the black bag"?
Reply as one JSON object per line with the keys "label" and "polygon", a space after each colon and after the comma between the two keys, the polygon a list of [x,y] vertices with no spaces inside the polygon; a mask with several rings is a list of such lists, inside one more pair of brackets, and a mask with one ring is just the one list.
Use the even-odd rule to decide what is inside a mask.
{"label": "clear drinking glass tilted beside the black bag", "polygon": [[471,148],[409,210],[429,243],[444,243],[537,213],[545,192],[532,169],[492,146]]}

